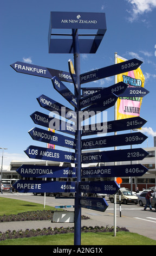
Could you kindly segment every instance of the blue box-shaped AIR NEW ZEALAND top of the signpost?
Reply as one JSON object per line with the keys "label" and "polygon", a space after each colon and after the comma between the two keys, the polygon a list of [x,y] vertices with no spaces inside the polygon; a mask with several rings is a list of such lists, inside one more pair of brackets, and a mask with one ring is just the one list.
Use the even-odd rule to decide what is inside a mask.
{"label": "blue box-shaped AIR NEW ZEALAND top of the signpost", "polygon": [[[48,35],[49,53],[73,53],[73,38],[71,38],[73,32],[54,34],[51,33],[52,29],[98,29],[98,32],[94,34],[79,34],[80,53],[95,53],[107,30],[105,13],[51,11]],[[51,36],[70,36],[70,39],[56,39]],[[80,39],[80,36],[92,36],[92,39]]]}

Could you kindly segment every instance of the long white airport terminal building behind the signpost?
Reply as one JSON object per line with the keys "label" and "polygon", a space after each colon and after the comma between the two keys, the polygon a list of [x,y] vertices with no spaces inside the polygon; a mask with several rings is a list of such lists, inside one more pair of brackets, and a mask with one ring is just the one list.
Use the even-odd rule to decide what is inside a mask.
{"label": "long white airport terminal building behind the signpost", "polygon": [[[147,157],[145,157],[144,160],[140,161],[132,161],[132,164],[138,164],[141,163],[146,168],[148,168],[148,171],[142,175],[142,176],[135,176],[132,177],[121,177],[122,178],[122,184],[121,187],[126,187],[131,189],[131,182],[133,184],[133,191],[135,191],[136,187],[139,187],[139,190],[142,190],[142,188],[148,188],[156,186],[156,147],[151,148],[144,148],[149,154]],[[18,162],[18,161],[12,161],[10,163],[10,166],[8,170],[3,170],[2,172],[2,179],[10,179],[12,181],[16,181],[17,179],[28,179],[28,178],[22,178],[21,175],[19,175],[16,170],[22,166],[22,164],[33,164],[33,165],[45,165],[46,166],[60,166],[60,167],[67,167],[71,166],[70,163],[62,163],[62,162],[54,162],[54,161],[44,161],[44,160],[36,160],[36,161],[27,161],[27,162]],[[114,162],[109,163],[109,165],[113,165]],[[130,164],[129,161],[127,162],[116,162],[117,165],[126,165]],[[93,166],[107,166],[108,163],[89,163],[89,164],[82,164],[82,167],[93,167]],[[72,164],[74,167],[74,164]],[[30,178],[32,179],[32,178]],[[67,178],[54,178],[53,180],[64,180],[67,181]],[[96,181],[102,181],[102,180],[114,180],[114,178],[83,178],[83,181],[87,180],[96,180]],[[74,178],[68,178],[68,181],[74,181]],[[14,183],[14,182],[12,182]]]}

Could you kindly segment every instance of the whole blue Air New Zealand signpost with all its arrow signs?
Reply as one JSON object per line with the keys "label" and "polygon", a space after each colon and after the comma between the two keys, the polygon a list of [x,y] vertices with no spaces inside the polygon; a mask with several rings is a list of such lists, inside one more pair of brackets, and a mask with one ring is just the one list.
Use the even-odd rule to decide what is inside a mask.
{"label": "whole blue Air New Zealand signpost with all its arrow signs", "polygon": [[[64,35],[54,34],[52,29],[72,29],[70,39],[54,39],[51,36]],[[80,34],[78,29],[98,29],[96,34]],[[70,119],[68,122],[41,112],[34,112],[30,115],[37,125],[42,125],[50,129],[59,130],[75,136],[75,139],[67,136],[38,129],[37,127],[29,131],[32,139],[45,143],[60,145],[62,147],[72,148],[75,153],[54,150],[31,145],[24,152],[31,159],[49,160],[56,162],[74,163],[76,167],[58,167],[58,166],[32,166],[23,165],[17,169],[17,172],[23,177],[31,178],[76,178],[76,182],[68,181],[43,181],[43,180],[19,180],[14,187],[17,191],[27,193],[75,193],[75,211],[74,211],[74,245],[81,245],[81,207],[105,211],[108,207],[105,199],[81,197],[81,193],[108,193],[116,194],[119,185],[116,181],[81,181],[81,169],[83,178],[93,177],[113,177],[113,176],[141,176],[147,172],[147,168],[141,164],[126,164],[125,166],[100,166],[84,167],[81,163],[102,163],[142,160],[148,153],[139,149],[97,151],[93,153],[83,152],[83,149],[114,147],[116,145],[140,144],[147,137],[142,133],[132,133],[125,135],[107,136],[99,138],[82,139],[81,144],[81,124],[82,117],[89,118],[90,115],[98,111],[104,111],[115,105],[118,97],[143,97],[148,91],[141,87],[129,87],[124,82],[120,82],[108,88],[97,88],[98,91],[92,95],[81,99],[80,84],[88,83],[102,78],[122,74],[135,70],[141,65],[138,59],[131,59],[125,62],[96,69],[85,74],[80,74],[80,53],[95,53],[106,32],[106,17],[104,13],[70,13],[70,12],[51,12],[49,26],[49,53],[73,53],[74,66],[72,60],[68,61],[69,72],[44,68],[32,64],[16,62],[11,67],[17,72],[51,79],[54,88],[75,108],[66,108],[60,103],[45,95],[37,98],[40,106],[49,111],[55,112],[55,115]],[[94,39],[79,39],[79,36],[95,36]],[[61,82],[73,82],[74,94]],[[89,88],[92,90],[92,88]],[[93,93],[93,92],[92,92]],[[90,93],[91,94],[91,93]],[[84,109],[85,108],[85,109]],[[83,111],[81,111],[83,109]],[[77,117],[77,112],[82,112],[82,117]],[[96,111],[96,113],[95,113]],[[94,113],[94,114],[93,114]],[[82,119],[81,119],[82,121]],[[146,120],[135,117],[122,120],[108,121],[107,123],[88,125],[82,127],[82,136],[94,135],[98,132],[117,132],[131,130],[142,127]],[[77,143],[76,143],[77,142]],[[115,230],[115,229],[114,229]]]}

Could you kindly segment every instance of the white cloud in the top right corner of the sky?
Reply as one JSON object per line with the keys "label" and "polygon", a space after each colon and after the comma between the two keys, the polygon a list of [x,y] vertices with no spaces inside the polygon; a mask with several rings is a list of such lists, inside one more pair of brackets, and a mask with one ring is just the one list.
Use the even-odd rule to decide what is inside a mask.
{"label": "white cloud in the top right corner of the sky", "polygon": [[153,8],[156,8],[156,0],[126,0],[132,5],[132,13],[128,10],[128,13],[131,13],[132,16],[129,18],[129,21],[133,22],[137,19],[138,15],[148,13],[152,11]]}

